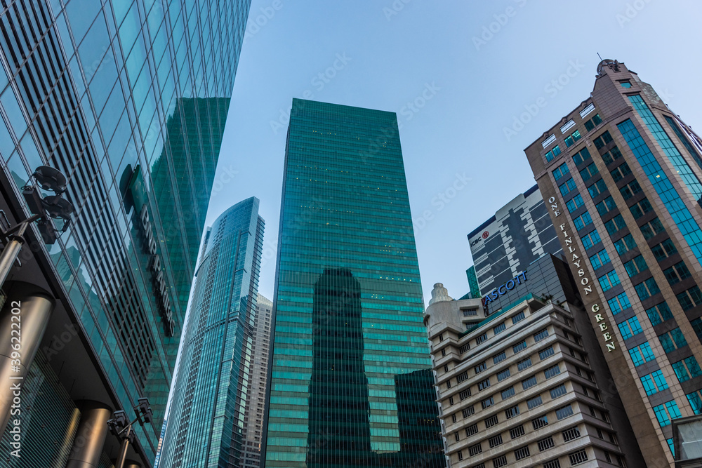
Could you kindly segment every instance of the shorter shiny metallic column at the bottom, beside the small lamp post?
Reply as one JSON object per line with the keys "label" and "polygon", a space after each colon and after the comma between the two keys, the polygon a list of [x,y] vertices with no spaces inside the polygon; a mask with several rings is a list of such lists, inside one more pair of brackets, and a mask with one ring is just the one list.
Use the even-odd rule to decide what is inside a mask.
{"label": "shorter shiny metallic column at the bottom, beside the small lamp post", "polygon": [[66,468],[95,468],[100,462],[102,446],[107,436],[107,420],[112,409],[98,401],[81,401],[81,423],[73,439]]}

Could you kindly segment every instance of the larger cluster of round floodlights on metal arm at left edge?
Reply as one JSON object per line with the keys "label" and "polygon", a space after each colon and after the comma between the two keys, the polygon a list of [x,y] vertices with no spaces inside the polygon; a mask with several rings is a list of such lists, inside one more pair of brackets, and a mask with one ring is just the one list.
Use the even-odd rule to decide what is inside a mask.
{"label": "larger cluster of round floodlights on metal arm at left edge", "polygon": [[39,166],[32,174],[34,179],[44,190],[51,190],[55,195],[41,197],[39,190],[34,185],[22,187],[22,196],[25,197],[29,211],[32,216],[26,220],[8,227],[0,229],[0,234],[5,241],[5,248],[0,255],[0,287],[5,283],[13,263],[25,243],[24,234],[30,224],[39,221],[39,232],[45,243],[53,244],[56,241],[56,232],[53,222],[49,218],[60,218],[64,220],[61,232],[66,232],[73,213],[73,205],[68,200],[62,198],[61,194],[66,191],[66,176],[58,169],[49,166]]}

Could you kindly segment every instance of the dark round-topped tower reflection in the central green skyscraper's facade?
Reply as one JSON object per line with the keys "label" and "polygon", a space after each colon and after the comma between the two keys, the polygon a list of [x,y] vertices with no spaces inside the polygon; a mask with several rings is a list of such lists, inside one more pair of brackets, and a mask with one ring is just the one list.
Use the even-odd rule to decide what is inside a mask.
{"label": "dark round-topped tower reflection in the central green skyscraper's facade", "polygon": [[355,466],[370,466],[368,418],[361,286],[350,269],[325,269],[314,284],[312,305],[307,467],[339,464],[341,454]]}

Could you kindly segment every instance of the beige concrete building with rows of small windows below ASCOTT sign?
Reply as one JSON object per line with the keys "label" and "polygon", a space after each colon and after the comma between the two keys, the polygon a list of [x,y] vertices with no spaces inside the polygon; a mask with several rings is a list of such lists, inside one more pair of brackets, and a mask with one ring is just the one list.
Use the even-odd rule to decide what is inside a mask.
{"label": "beige concrete building with rows of small windows below ASCOTT sign", "polygon": [[588,352],[594,333],[578,332],[584,311],[561,300],[571,290],[552,296],[561,305],[527,294],[489,316],[479,300],[428,307],[449,467],[644,466],[621,401],[598,385],[611,376]]}

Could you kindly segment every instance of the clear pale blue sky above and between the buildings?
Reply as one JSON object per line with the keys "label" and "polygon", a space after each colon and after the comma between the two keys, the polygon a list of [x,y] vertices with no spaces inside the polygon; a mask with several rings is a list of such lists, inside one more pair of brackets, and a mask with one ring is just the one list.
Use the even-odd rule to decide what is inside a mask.
{"label": "clear pale blue sky above and between the buildings", "polygon": [[699,18],[692,0],[253,0],[207,223],[260,199],[272,298],[292,98],[397,112],[425,302],[436,282],[460,297],[466,235],[534,185],[524,148],[588,98],[598,52],[702,131]]}

